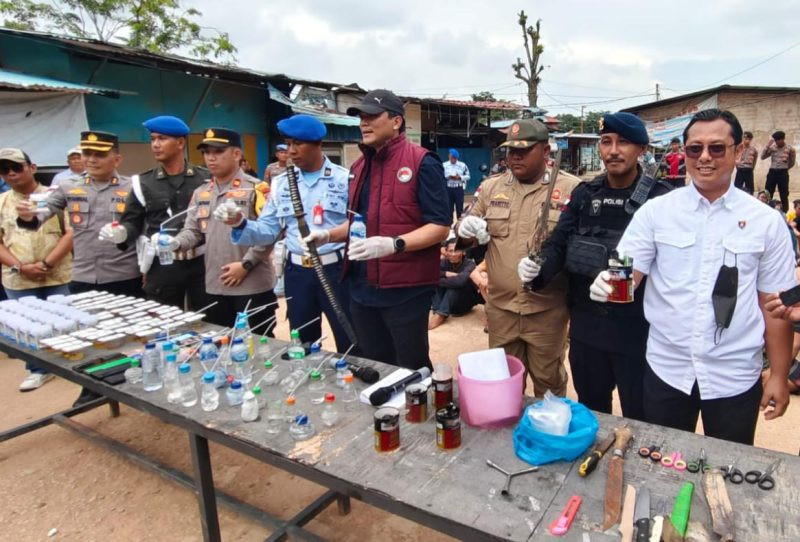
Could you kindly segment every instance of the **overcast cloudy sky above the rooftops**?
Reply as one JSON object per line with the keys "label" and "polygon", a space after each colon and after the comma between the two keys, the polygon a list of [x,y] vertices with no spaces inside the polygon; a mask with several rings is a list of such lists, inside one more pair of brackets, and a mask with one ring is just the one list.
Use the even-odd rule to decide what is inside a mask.
{"label": "overcast cloudy sky above the rooftops", "polygon": [[243,67],[409,96],[469,99],[489,90],[524,103],[524,84],[510,67],[524,57],[520,9],[529,24],[542,19],[548,68],[539,105],[553,114],[646,103],[656,83],[662,97],[723,83],[800,86],[800,0],[185,5],[203,12],[204,25],[230,33]]}

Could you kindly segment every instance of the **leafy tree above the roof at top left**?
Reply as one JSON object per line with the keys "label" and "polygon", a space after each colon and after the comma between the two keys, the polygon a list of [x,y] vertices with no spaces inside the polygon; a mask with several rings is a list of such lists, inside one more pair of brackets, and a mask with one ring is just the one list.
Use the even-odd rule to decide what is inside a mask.
{"label": "leafy tree above the roof at top left", "polygon": [[236,47],[227,32],[202,27],[194,8],[180,0],[0,0],[4,26],[43,30],[154,53],[186,50],[197,58],[234,62]]}

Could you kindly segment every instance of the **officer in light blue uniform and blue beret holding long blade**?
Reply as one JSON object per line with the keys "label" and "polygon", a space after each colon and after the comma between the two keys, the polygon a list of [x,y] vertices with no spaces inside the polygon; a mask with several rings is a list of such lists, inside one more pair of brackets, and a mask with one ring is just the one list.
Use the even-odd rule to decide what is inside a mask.
{"label": "officer in light blue uniform and blue beret holding long blade", "polygon": [[[289,157],[295,165],[300,199],[306,223],[311,230],[330,230],[347,220],[347,184],[349,172],[337,166],[322,153],[325,125],[310,115],[294,115],[278,122],[278,131],[286,138]],[[322,290],[311,260],[303,256],[300,231],[294,217],[286,173],[273,180],[269,199],[258,220],[246,220],[239,215],[226,220],[234,226],[231,240],[241,245],[271,245],[286,234],[288,256],[284,266],[284,281],[289,323],[292,328],[325,313],[328,317],[336,348],[344,352],[350,341],[336,318]],[[333,286],[339,304],[349,306],[346,283],[340,282],[344,243],[326,243],[317,247],[325,274]],[[348,314],[349,317],[349,314]],[[320,322],[300,330],[303,342],[314,341],[322,333]]]}

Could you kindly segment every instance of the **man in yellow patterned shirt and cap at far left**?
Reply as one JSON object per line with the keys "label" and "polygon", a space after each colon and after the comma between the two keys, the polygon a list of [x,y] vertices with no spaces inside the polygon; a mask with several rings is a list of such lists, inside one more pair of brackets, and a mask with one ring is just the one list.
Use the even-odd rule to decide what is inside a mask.
{"label": "man in yellow patterned shirt and cap at far left", "polygon": [[[0,263],[9,299],[69,294],[72,230],[64,225],[63,217],[50,217],[34,231],[18,225],[17,205],[33,194],[47,194],[47,187],[36,182],[34,173],[36,165],[22,150],[0,149],[0,176],[11,186],[0,195]],[[20,391],[35,390],[52,378],[31,363],[25,365],[29,374]]]}

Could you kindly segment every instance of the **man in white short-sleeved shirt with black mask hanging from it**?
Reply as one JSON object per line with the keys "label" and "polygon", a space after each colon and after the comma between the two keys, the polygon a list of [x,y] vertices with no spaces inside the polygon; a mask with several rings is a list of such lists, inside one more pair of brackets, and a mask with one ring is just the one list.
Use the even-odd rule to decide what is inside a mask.
{"label": "man in white short-sleeved shirt with black mask hanging from it", "polygon": [[[691,183],[645,203],[618,245],[636,283],[649,277],[645,420],[694,431],[702,414],[706,435],[752,444],[759,405],[770,420],[789,403],[792,328],[765,303],[796,282],[792,246],[783,217],[731,183],[736,117],[701,111],[683,136]],[[608,300],[608,279],[598,275],[592,299]]]}

